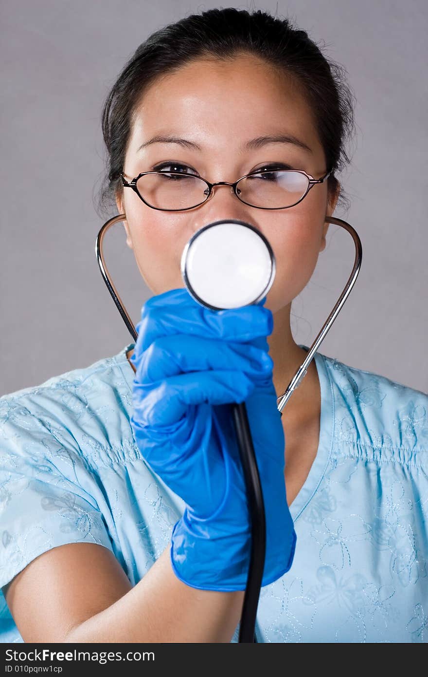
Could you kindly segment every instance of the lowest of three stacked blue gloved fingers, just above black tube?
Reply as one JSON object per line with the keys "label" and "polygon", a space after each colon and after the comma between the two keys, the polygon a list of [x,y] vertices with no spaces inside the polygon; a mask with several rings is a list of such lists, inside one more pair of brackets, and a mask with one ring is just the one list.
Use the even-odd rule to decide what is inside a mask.
{"label": "lowest of three stacked blue gloved fingers, just above black tube", "polygon": [[254,380],[236,370],[189,372],[154,384],[135,382],[133,420],[139,426],[162,429],[179,422],[191,405],[241,403],[254,388]]}

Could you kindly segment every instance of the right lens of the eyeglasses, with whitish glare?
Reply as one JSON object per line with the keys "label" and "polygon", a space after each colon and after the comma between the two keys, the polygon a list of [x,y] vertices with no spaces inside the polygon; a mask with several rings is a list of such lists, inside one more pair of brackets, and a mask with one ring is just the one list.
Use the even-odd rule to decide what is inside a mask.
{"label": "right lens of the eyeglasses, with whitish glare", "polygon": [[265,171],[239,181],[237,194],[243,202],[255,207],[281,209],[293,206],[304,196],[309,179],[290,169]]}

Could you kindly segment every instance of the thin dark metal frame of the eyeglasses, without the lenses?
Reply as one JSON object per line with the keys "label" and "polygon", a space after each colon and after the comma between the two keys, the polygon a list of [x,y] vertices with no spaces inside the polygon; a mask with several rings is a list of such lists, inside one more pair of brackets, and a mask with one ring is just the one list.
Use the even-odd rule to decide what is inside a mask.
{"label": "thin dark metal frame of the eyeglasses, without the lenses", "polygon": [[[238,185],[239,181],[242,181],[243,179],[246,179],[249,176],[253,176],[254,174],[263,174],[263,173],[267,174],[267,173],[272,173],[273,171],[281,171],[281,172],[293,171],[293,172],[298,172],[300,174],[304,174],[306,176],[306,178],[308,179],[308,188],[306,189],[306,192],[300,198],[300,200],[298,200],[298,202],[294,202],[294,204],[289,204],[286,207],[259,207],[259,206],[256,206],[256,204],[250,204],[250,202],[245,202],[245,200],[243,200],[242,198],[239,197],[239,195],[237,194],[237,185]],[[120,179],[122,179],[122,185],[124,186],[124,188],[132,188],[137,193],[140,200],[142,200],[142,202],[144,202],[144,204],[147,204],[147,206],[150,207],[150,209],[157,209],[158,211],[189,211],[191,209],[195,209],[196,207],[201,206],[201,204],[204,204],[204,202],[207,202],[207,200],[210,199],[210,197],[213,195],[212,189],[214,188],[214,185],[230,185],[231,188],[232,188],[233,194],[235,194],[235,196],[238,198],[238,200],[240,202],[243,202],[243,204],[248,204],[248,206],[254,207],[254,209],[269,209],[269,210],[271,210],[271,209],[289,209],[290,207],[294,207],[296,204],[300,204],[300,202],[302,202],[302,200],[304,200],[304,198],[306,198],[310,189],[313,188],[313,186],[316,183],[324,183],[325,179],[327,179],[329,177],[331,172],[332,172],[332,170],[329,170],[320,179],[314,179],[313,176],[308,174],[303,169],[265,169],[265,170],[262,170],[262,171],[256,170],[256,171],[250,172],[249,174],[244,174],[239,179],[237,179],[237,181],[234,181],[233,183],[230,183],[229,181],[216,181],[216,183],[210,183],[210,181],[207,181],[206,179],[203,179],[202,177],[197,176],[196,177],[197,179],[199,179],[200,181],[204,181],[204,183],[206,183],[206,185],[208,186],[208,195],[206,196],[205,200],[202,200],[201,202],[193,205],[192,207],[185,207],[184,209],[162,209],[161,207],[153,207],[152,204],[149,204],[143,198],[143,196],[141,196],[139,194],[139,191],[138,191],[138,188],[137,188],[137,181],[139,179],[141,179],[142,176],[145,176],[146,174],[168,174],[168,175],[174,175],[174,176],[183,176],[182,172],[174,172],[174,171],[166,172],[166,171],[160,171],[160,170],[158,170],[158,171],[143,171],[138,176],[136,176],[134,179],[132,179],[132,181],[126,181],[124,174],[122,172],[120,172]],[[190,175],[190,176],[193,176],[193,175]]]}

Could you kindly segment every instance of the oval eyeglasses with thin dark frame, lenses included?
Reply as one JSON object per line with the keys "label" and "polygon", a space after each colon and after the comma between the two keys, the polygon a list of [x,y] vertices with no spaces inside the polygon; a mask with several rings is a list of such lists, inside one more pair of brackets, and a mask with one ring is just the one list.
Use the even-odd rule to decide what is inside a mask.
{"label": "oval eyeglasses with thin dark frame, lenses included", "polygon": [[124,188],[132,188],[151,209],[185,211],[209,200],[214,185],[230,185],[238,200],[257,209],[288,209],[302,202],[312,186],[323,183],[330,174],[314,179],[300,169],[263,169],[245,174],[235,183],[210,183],[175,171],[145,171],[129,182],[121,172],[120,178]]}

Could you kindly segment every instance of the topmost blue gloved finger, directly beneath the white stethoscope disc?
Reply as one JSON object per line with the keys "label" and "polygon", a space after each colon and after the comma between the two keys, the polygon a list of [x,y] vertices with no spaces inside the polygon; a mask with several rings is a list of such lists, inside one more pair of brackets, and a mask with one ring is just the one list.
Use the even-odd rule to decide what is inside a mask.
{"label": "topmost blue gloved finger, directly beneath the white stethoscope disc", "polygon": [[272,312],[260,303],[213,311],[197,303],[187,288],[173,289],[151,297],[143,305],[141,322],[136,326],[136,359],[155,339],[168,334],[191,334],[245,343],[257,336],[268,336],[272,329]]}

